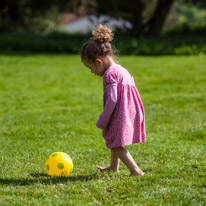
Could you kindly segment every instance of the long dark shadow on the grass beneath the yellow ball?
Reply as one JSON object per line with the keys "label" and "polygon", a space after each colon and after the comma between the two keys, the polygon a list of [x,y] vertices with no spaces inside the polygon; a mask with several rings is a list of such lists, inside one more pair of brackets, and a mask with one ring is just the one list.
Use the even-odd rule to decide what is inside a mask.
{"label": "long dark shadow on the grass beneath the yellow ball", "polygon": [[75,181],[90,181],[94,179],[98,179],[97,173],[89,174],[89,175],[78,175],[78,176],[70,176],[70,177],[51,177],[45,173],[32,173],[30,174],[32,179],[0,179],[0,185],[32,185],[32,184],[58,184],[58,183],[66,183],[66,182],[75,182]]}

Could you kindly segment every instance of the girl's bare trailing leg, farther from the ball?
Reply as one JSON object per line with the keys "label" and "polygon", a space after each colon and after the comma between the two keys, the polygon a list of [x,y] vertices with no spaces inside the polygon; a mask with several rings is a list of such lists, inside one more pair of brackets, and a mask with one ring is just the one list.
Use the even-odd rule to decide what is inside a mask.
{"label": "girl's bare trailing leg, farther from the ball", "polygon": [[131,176],[144,176],[144,172],[137,166],[131,154],[123,147],[112,148],[117,157],[128,167]]}

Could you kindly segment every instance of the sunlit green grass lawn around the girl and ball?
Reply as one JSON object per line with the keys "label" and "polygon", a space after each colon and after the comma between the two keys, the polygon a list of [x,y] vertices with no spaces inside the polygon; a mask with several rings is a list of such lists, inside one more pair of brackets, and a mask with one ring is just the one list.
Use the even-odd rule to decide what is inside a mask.
{"label": "sunlit green grass lawn around the girl and ball", "polygon": [[[0,205],[206,205],[206,58],[123,56],[145,112],[147,142],[130,145],[144,177],[100,173],[110,151],[95,123],[102,78],[78,56],[0,56]],[[45,162],[68,153],[72,176]]]}

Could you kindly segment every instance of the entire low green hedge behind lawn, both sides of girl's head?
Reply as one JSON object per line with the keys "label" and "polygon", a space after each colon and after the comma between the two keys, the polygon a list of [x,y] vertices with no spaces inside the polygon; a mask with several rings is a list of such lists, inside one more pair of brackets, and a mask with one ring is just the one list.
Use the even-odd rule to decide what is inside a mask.
{"label": "entire low green hedge behind lawn, both sides of girl's head", "polygon": [[[183,32],[184,31],[184,32]],[[203,55],[206,54],[204,32],[195,33],[183,28],[173,30],[159,38],[134,38],[116,33],[113,42],[120,54],[127,55]],[[201,30],[202,31],[202,30]],[[88,35],[31,32],[0,34],[0,52],[38,52],[78,54]]]}

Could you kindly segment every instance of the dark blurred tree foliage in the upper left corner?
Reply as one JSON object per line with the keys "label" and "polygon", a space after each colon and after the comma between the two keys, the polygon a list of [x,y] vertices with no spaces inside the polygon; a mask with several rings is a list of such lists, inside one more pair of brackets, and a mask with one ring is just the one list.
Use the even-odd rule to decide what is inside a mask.
{"label": "dark blurred tree foliage in the upper left corner", "polygon": [[79,4],[79,0],[0,0],[0,31],[29,28],[35,21],[41,25],[49,15],[57,20],[59,13],[74,11]]}

